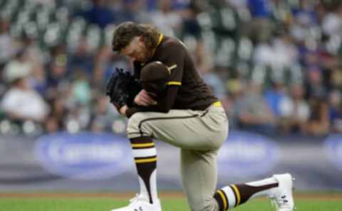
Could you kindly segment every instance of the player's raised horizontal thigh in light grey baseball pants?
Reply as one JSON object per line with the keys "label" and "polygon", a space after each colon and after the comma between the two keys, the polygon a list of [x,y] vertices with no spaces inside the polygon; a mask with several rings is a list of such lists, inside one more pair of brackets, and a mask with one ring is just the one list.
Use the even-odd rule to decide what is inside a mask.
{"label": "player's raised horizontal thigh in light grey baseball pants", "polygon": [[[140,112],[134,114],[128,121],[128,138],[152,136],[180,148],[195,150],[219,148],[226,132],[213,125],[219,123],[210,122],[212,121],[211,114],[206,113],[208,112],[190,109],[174,109],[167,114]],[[222,128],[225,127],[222,126]]]}

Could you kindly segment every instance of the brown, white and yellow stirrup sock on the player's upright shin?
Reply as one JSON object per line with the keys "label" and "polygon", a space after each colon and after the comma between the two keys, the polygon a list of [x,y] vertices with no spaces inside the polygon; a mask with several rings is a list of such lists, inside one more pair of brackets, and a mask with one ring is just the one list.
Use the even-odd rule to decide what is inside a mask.
{"label": "brown, white and yellow stirrup sock on the player's upright shin", "polygon": [[157,200],[157,151],[155,143],[150,137],[140,136],[130,139],[133,148],[135,166],[137,166],[140,197],[147,199],[151,204]]}

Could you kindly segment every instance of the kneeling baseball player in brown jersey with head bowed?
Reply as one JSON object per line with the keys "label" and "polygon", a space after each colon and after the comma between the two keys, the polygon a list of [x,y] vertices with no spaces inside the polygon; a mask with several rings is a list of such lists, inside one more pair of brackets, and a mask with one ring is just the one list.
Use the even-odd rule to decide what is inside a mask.
{"label": "kneeling baseball player in brown jersey with head bowed", "polygon": [[217,185],[217,152],[227,139],[228,121],[221,103],[204,83],[192,55],[176,38],[154,26],[121,23],[113,33],[113,51],[134,60],[134,75],[117,70],[106,93],[128,117],[140,193],[112,211],[161,211],[157,195],[157,151],[153,139],[181,149],[181,177],[192,211],[224,211],[257,196],[276,210],[294,210],[289,173],[251,183]]}

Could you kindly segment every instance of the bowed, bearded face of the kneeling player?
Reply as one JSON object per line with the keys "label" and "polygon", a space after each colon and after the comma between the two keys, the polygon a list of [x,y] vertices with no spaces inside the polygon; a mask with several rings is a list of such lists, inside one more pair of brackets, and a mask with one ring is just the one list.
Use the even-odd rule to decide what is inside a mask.
{"label": "bowed, bearded face of the kneeling player", "polygon": [[135,37],[123,50],[123,55],[140,62],[146,62],[148,58],[147,48],[141,37]]}

